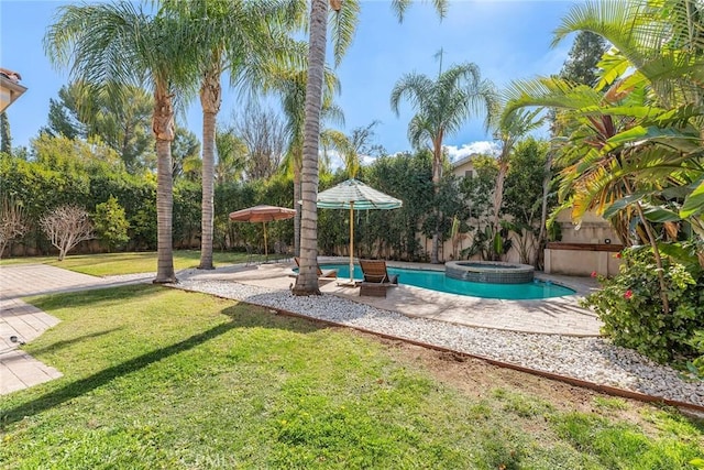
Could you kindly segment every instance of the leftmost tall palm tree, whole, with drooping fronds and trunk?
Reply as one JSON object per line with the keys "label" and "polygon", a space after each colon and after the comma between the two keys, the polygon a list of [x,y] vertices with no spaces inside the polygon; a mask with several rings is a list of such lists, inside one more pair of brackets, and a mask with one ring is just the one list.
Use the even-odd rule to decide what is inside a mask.
{"label": "leftmost tall palm tree, whole, with drooping fronds and trunk", "polygon": [[65,6],[48,26],[44,46],[74,79],[118,95],[123,85],[144,80],[154,95],[152,130],[157,155],[157,272],[155,283],[176,282],[172,244],[175,98],[187,90],[197,64],[189,37],[174,15],[147,14],[130,1]]}

